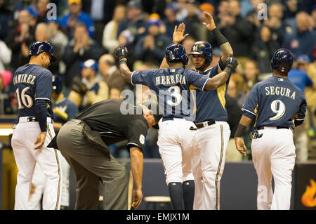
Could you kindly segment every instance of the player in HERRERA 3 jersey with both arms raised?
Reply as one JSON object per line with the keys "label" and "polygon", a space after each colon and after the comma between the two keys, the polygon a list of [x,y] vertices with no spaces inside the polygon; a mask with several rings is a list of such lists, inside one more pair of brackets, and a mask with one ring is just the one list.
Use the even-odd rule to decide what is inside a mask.
{"label": "player in HERRERA 3 jersey with both arms raised", "polygon": [[[192,116],[194,95],[190,86],[202,90],[216,89],[227,81],[237,60],[231,58],[223,72],[216,77],[201,76],[185,69],[187,55],[180,44],[166,48],[166,62],[169,68],[131,72],[126,65],[127,50],[119,46],[114,50],[119,61],[119,69],[125,81],[131,84],[148,86],[155,95],[159,107],[164,108],[163,118],[159,121],[157,145],[165,168],[166,184],[174,209],[192,209],[194,191],[187,194],[187,181],[194,180],[191,158],[195,147],[197,128]],[[192,99],[191,99],[192,98]],[[194,186],[189,185],[189,192]]]}

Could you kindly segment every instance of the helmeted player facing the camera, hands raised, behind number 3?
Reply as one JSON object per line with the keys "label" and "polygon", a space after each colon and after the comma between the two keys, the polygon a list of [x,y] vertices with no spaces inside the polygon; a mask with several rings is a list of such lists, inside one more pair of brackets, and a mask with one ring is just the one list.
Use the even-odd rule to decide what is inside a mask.
{"label": "helmeted player facing the camera, hands raised, behind number 3", "polygon": [[[199,74],[214,77],[225,69],[225,62],[232,57],[232,47],[227,39],[216,28],[213,17],[204,12],[208,22],[203,24],[213,32],[223,55],[218,65],[211,67],[213,60],[212,46],[206,41],[197,41],[192,45],[192,61]],[[173,43],[179,43],[185,38],[185,25],[175,28]],[[162,63],[165,66],[166,63]],[[219,209],[220,205],[220,178],[225,164],[225,151],[230,138],[230,126],[227,123],[228,114],[225,107],[225,95],[228,80],[211,91],[196,90],[196,117],[197,147],[193,157],[193,176],[195,177],[195,201],[193,209]]]}

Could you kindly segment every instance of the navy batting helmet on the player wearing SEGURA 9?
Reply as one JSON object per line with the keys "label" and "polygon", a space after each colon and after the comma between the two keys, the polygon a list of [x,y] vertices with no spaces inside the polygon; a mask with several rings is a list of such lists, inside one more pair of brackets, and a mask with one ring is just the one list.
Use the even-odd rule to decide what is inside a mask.
{"label": "navy batting helmet on the player wearing SEGURA 9", "polygon": [[293,56],[291,51],[286,48],[280,48],[275,51],[271,59],[272,70],[277,70],[279,72],[289,72],[293,65]]}

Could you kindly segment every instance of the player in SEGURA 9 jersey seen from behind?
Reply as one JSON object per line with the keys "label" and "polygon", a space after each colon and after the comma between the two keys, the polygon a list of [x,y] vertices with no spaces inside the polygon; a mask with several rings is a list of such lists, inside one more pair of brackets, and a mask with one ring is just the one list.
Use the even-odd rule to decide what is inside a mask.
{"label": "player in SEGURA 9 jersey seen from behind", "polygon": [[296,157],[292,130],[303,123],[306,111],[303,91],[287,78],[292,64],[291,51],[284,48],[275,51],[271,60],[272,77],[251,89],[235,133],[236,148],[246,156],[242,136],[256,119],[251,153],[258,176],[258,209],[288,210],[291,204],[291,174]]}

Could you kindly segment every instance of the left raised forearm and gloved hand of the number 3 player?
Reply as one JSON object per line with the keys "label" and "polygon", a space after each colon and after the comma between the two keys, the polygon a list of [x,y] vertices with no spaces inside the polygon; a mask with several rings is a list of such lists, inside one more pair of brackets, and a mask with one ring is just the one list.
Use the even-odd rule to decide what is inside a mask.
{"label": "left raised forearm and gloved hand of the number 3 player", "polygon": [[117,48],[114,49],[114,55],[117,59],[117,62],[119,64],[119,71],[121,74],[121,77],[124,79],[124,81],[131,83],[131,70],[129,70],[129,67],[127,66],[127,55],[128,55],[127,49],[120,45]]}

